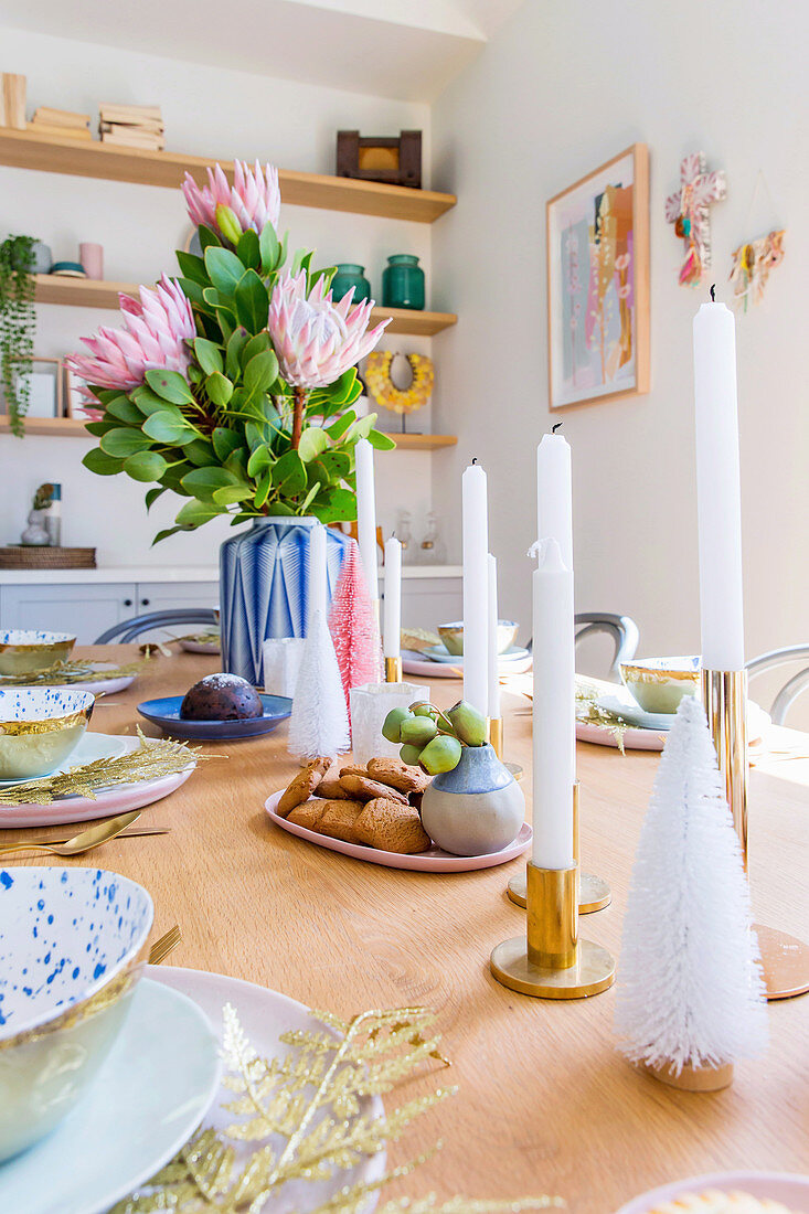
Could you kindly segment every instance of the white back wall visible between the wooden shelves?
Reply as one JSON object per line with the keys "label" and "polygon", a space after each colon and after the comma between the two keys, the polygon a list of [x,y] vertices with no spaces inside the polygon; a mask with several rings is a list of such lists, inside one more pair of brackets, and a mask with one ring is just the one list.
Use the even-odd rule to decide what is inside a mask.
{"label": "white back wall visible between the wooden shelves", "polygon": [[[0,68],[28,76],[29,117],[40,104],[95,115],[102,101],[159,103],[169,149],[224,159],[258,155],[284,169],[312,172],[334,171],[340,127],[358,127],[370,135],[420,127],[429,172],[426,106],[22,30],[2,29],[0,47]],[[322,265],[363,263],[377,293],[391,253],[418,254],[429,283],[428,225],[288,206],[282,209],[284,226],[290,249],[316,246]],[[6,232],[32,233],[51,245],[56,260],[75,259],[80,240],[97,240],[104,246],[104,273],[111,279],[152,283],[163,270],[176,270],[172,250],[185,240],[188,228],[179,191],[0,168],[0,238]],[[115,312],[51,305],[40,306],[38,314],[35,352],[44,356],[77,348],[83,334],[100,324],[115,324],[118,317]],[[387,345],[425,353],[430,348],[429,342],[395,336]],[[152,537],[171,523],[180,500],[160,499],[147,518],[142,487],[125,476],[97,477],[81,467],[81,456],[91,446],[78,438],[29,437],[21,442],[0,436],[0,543],[18,539],[33,490],[53,480],[63,487],[63,543],[96,545],[102,563],[216,560],[219,541],[228,533],[219,522],[175,535],[152,550]],[[395,524],[395,506],[406,498],[418,528],[423,528],[430,505],[429,460],[428,454],[411,452],[379,458],[380,522],[386,531]]]}

